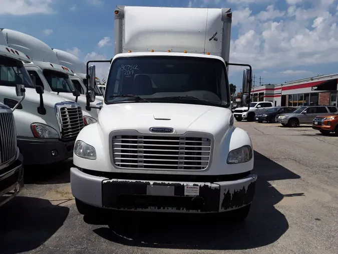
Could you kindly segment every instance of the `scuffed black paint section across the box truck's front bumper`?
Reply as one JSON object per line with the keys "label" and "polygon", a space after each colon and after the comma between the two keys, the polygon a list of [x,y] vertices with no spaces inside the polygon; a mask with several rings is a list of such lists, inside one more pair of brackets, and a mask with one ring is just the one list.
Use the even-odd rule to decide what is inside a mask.
{"label": "scuffed black paint section across the box truck's front bumper", "polygon": [[[102,181],[102,207],[163,212],[223,212],[250,204],[256,179],[256,175],[215,183],[109,179]],[[188,185],[197,186],[198,195],[185,195],[185,186]]]}

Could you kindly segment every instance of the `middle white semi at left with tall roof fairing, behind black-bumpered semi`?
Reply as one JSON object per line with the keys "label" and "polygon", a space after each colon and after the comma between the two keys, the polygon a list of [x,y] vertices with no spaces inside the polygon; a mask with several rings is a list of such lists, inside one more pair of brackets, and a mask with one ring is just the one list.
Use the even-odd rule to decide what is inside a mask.
{"label": "middle white semi at left with tall roof fairing, behind black-bumpered semi", "polygon": [[[69,79],[74,73],[59,64],[57,55],[46,43],[33,36],[10,29],[3,29],[3,33],[9,46],[22,51],[30,58],[31,62],[25,64],[25,67],[37,85],[42,86],[47,92],[78,102],[88,115],[86,116],[88,122],[97,121],[98,110],[87,107],[86,96],[81,96]],[[90,105],[96,107],[96,104],[101,101],[95,99],[94,91],[90,92],[90,96],[93,101]]]}

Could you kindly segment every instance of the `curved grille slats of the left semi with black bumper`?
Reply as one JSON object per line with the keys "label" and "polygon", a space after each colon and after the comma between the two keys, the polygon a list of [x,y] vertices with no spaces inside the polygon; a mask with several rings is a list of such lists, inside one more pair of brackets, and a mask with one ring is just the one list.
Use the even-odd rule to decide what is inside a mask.
{"label": "curved grille slats of the left semi with black bumper", "polygon": [[85,126],[81,107],[61,107],[60,115],[62,124],[62,139],[75,140],[82,128]]}

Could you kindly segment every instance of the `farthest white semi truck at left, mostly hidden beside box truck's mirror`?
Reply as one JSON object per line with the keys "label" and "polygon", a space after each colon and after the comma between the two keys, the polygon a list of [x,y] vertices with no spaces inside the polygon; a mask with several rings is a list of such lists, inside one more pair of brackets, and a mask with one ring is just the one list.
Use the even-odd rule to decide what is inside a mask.
{"label": "farthest white semi truck at left, mostly hidden beside box truck's mirror", "polygon": [[[87,84],[87,70],[85,63],[69,52],[60,49],[53,49],[53,51],[57,54],[60,64],[74,72],[74,75],[70,76],[70,79],[73,82],[75,88],[80,91],[81,94],[85,94]],[[98,83],[99,81],[100,79],[96,78],[96,82]],[[94,91],[96,99],[103,101],[103,93],[97,84],[95,84]]]}

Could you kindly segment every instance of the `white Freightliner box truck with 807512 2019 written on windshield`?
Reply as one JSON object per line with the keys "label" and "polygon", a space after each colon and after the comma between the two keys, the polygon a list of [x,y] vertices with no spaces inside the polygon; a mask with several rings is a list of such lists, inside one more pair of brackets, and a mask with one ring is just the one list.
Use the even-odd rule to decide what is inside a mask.
{"label": "white Freightliner box truck with 807512 2019 written on windshield", "polygon": [[[245,104],[252,73],[228,62],[231,16],[226,8],[117,7],[103,107],[74,148],[80,213],[232,211],[245,219],[257,175],[250,137],[233,125],[228,66],[249,67]],[[94,65],[88,74],[93,87]]]}

